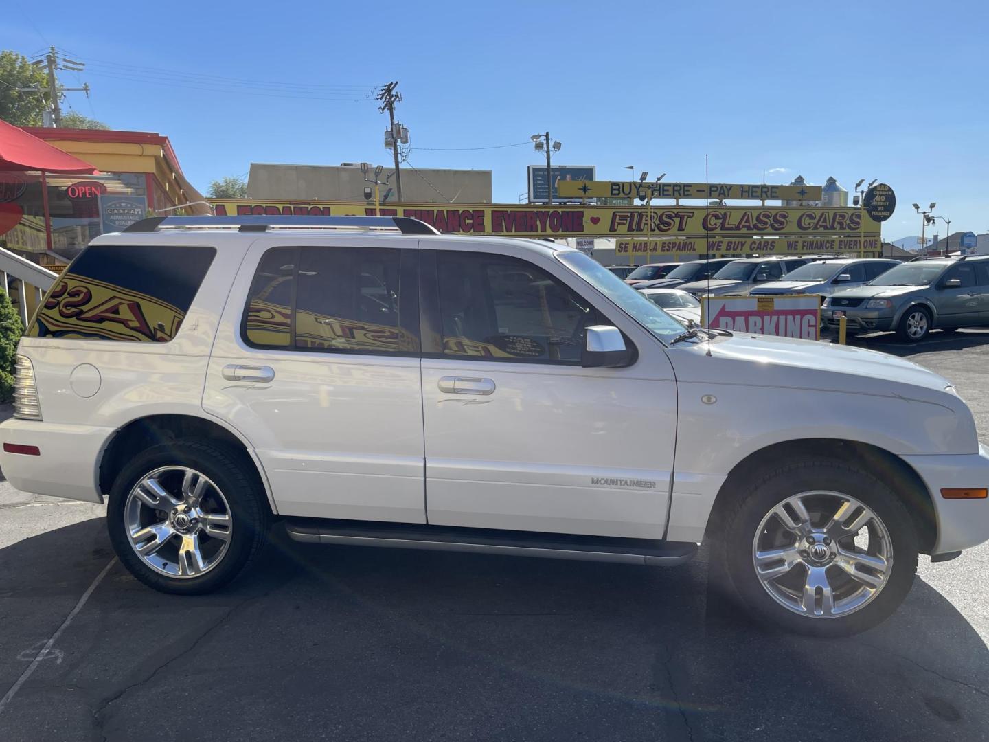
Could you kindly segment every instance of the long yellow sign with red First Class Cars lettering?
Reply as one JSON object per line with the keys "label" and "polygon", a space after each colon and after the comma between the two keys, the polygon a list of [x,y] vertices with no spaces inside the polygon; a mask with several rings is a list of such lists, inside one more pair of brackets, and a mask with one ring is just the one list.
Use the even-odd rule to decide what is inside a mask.
{"label": "long yellow sign with red First Class Cars lettering", "polygon": [[[830,207],[538,206],[214,200],[217,216],[411,217],[452,234],[522,237],[850,237],[879,235],[860,209]],[[864,219],[864,224],[862,223]]]}

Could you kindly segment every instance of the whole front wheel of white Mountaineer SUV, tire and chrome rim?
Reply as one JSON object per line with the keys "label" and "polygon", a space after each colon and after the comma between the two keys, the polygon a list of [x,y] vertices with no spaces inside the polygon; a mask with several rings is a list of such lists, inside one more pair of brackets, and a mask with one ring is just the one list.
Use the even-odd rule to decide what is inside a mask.
{"label": "whole front wheel of white Mountaineer SUV, tire and chrome rim", "polygon": [[790,631],[869,628],[902,603],[917,570],[917,534],[899,499],[837,461],[766,473],[722,522],[721,558],[742,603]]}

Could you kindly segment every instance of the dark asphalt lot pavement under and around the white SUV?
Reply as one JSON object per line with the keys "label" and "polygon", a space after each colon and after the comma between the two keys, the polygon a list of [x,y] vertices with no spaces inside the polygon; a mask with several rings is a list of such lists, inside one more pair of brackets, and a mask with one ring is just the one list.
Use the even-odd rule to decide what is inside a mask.
{"label": "dark asphalt lot pavement under and around the white SUV", "polygon": [[[989,441],[989,332],[855,344],[955,382]],[[276,539],[176,598],[103,508],[0,485],[0,740],[978,740],[989,547],[852,639],[767,633],[703,557],[660,569]],[[47,651],[39,657],[40,651]]]}

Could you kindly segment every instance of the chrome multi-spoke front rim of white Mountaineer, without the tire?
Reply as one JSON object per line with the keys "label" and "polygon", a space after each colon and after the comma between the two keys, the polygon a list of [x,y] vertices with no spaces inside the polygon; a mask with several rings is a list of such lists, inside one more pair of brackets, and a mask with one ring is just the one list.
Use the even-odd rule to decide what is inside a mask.
{"label": "chrome multi-spoke front rim of white Mountaineer, without the tire", "polygon": [[893,544],[866,505],[839,492],[814,490],[766,513],[752,558],[776,603],[812,618],[837,618],[871,603],[886,586]]}

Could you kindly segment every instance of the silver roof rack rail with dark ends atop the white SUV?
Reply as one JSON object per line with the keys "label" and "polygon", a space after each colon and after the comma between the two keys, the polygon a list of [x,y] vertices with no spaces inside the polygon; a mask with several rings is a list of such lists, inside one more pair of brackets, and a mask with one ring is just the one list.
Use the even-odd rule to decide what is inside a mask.
{"label": "silver roof rack rail with dark ends atop the white SUV", "polygon": [[267,232],[278,229],[366,230],[403,234],[439,234],[434,228],[410,217],[150,217],[135,222],[124,232],[157,232],[165,229],[237,229]]}

